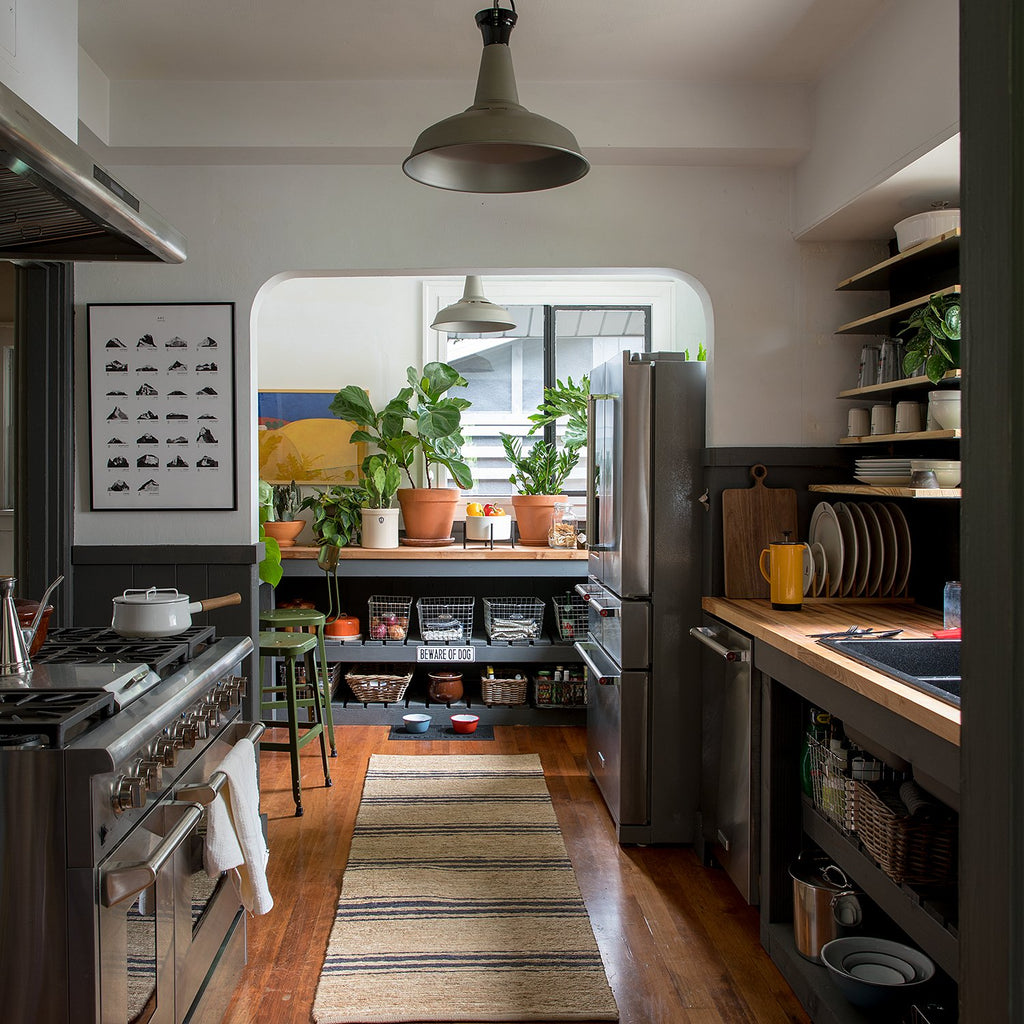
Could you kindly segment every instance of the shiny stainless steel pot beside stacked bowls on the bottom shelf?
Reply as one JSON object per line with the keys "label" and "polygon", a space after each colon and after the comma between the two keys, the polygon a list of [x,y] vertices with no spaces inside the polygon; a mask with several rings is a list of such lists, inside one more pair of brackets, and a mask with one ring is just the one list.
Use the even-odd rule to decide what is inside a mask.
{"label": "shiny stainless steel pot beside stacked bowls on the bottom shelf", "polygon": [[842,870],[827,860],[801,854],[791,865],[793,930],[797,951],[821,963],[821,947],[848,935],[861,922],[860,895]]}

